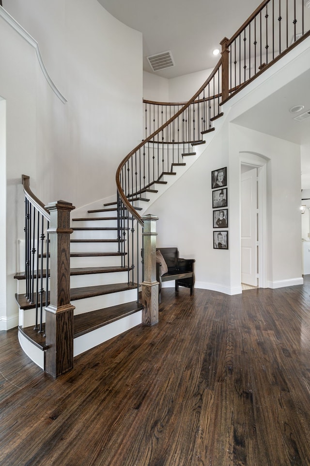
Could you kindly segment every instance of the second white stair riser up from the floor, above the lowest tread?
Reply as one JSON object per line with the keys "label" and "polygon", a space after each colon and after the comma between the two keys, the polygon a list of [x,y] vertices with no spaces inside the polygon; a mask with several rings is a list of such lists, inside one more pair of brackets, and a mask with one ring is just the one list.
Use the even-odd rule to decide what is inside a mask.
{"label": "second white stair riser up from the floor, above the lowest tread", "polygon": [[137,289],[94,296],[93,298],[85,298],[84,300],[72,300],[71,304],[76,307],[74,314],[77,316],[84,312],[105,309],[106,307],[116,306],[117,304],[123,304],[134,300],[137,300]]}

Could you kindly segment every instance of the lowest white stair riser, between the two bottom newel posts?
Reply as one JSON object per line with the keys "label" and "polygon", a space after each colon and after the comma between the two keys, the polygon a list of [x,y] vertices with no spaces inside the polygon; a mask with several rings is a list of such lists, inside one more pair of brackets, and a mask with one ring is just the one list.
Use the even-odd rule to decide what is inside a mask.
{"label": "lowest white stair riser, between the two bottom newel posts", "polygon": [[140,325],[141,320],[142,312],[138,311],[134,314],[130,314],[130,316],[111,322],[109,325],[105,325],[100,329],[93,330],[93,332],[85,333],[85,335],[75,338],[73,343],[73,355],[78,356],[78,354],[90,350],[110,338],[114,338],[115,336]]}

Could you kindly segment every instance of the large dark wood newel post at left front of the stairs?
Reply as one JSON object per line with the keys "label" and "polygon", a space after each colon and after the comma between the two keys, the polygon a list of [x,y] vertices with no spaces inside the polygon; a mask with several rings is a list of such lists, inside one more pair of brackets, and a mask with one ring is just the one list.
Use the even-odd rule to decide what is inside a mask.
{"label": "large dark wood newel post at left front of the stairs", "polygon": [[70,212],[63,200],[45,207],[50,213],[50,299],[46,307],[46,371],[58,377],[73,368],[73,311],[70,304]]}

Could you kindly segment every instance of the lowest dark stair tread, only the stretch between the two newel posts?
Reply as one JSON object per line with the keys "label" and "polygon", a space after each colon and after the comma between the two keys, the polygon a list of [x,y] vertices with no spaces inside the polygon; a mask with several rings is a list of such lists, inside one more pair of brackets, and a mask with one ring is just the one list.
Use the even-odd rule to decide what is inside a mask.
{"label": "lowest dark stair tread, only the stretch between the two newel posts", "polygon": [[141,309],[143,309],[143,305],[140,302],[131,301],[79,314],[74,317],[74,338],[134,314]]}

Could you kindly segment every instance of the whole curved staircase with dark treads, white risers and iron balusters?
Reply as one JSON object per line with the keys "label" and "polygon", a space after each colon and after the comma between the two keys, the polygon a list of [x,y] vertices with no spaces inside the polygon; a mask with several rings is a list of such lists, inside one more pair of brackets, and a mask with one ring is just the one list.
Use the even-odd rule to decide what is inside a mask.
{"label": "whole curved staircase with dark treads, white risers and iron balusters", "polygon": [[[147,121],[154,130],[155,115],[159,113],[157,103],[145,103],[149,105],[145,107],[145,139],[118,167],[116,202],[104,205],[103,209],[89,210],[85,217],[73,217],[70,223],[71,204],[57,201],[46,209],[31,193],[29,177],[23,177],[26,195],[25,262],[28,271],[15,276],[18,282],[16,300],[20,308],[18,336],[25,352],[44,369],[47,354],[54,351],[56,359],[66,358],[72,350],[71,363],[62,368],[62,360],[58,361],[60,371],[50,372],[54,376],[70,370],[73,356],[136,325],[152,325],[158,321],[154,253],[157,218],[141,215],[152,201],[163,194],[171,180],[177,180],[205,150],[206,142],[213,137],[210,133],[215,131],[213,122],[223,116],[221,104],[309,36],[309,28],[304,27],[302,9],[297,11],[294,8],[293,17],[289,17],[291,9],[287,10],[285,17],[284,14],[276,19],[272,16],[273,30],[279,28],[281,21],[286,23],[286,47],[281,42],[282,29],[279,35],[282,49],[280,47],[277,51],[273,44],[271,58],[267,33],[263,37],[262,28],[260,33],[256,32],[256,25],[262,17],[267,21],[270,5],[270,0],[263,1],[230,40],[226,37],[222,40],[221,58],[206,82],[153,133],[147,127]],[[298,15],[302,17],[302,35],[297,38],[294,28],[294,43],[289,46],[288,31],[291,24],[296,24]],[[253,30],[259,34],[255,35],[254,48],[246,49],[244,45],[241,50],[240,44],[246,44],[251,31],[253,39]],[[265,55],[263,49],[266,50]],[[179,108],[169,103],[167,106]],[[171,115],[171,112],[166,114]],[[27,178],[28,186],[27,181],[24,183]],[[141,266],[141,249],[144,250],[144,267],[143,264]],[[26,299],[25,295],[29,298]],[[75,307],[74,316],[72,306]],[[39,318],[35,310],[39,312]],[[45,327],[52,333],[47,338]],[[71,336],[72,349],[69,348]]]}

